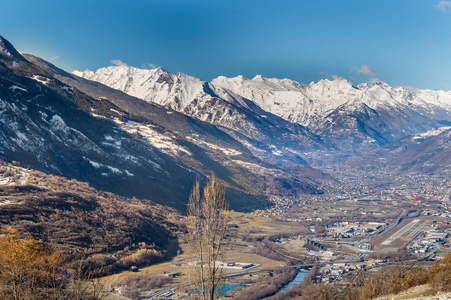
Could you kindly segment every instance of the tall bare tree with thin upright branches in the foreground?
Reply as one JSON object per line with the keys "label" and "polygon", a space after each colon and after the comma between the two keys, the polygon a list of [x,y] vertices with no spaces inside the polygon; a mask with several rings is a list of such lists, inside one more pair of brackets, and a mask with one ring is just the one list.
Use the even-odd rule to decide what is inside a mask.
{"label": "tall bare tree with thin upright branches in the foreground", "polygon": [[214,175],[202,194],[196,182],[188,203],[187,238],[191,252],[188,274],[200,299],[219,297],[225,279],[221,262],[228,229],[227,209],[224,188]]}

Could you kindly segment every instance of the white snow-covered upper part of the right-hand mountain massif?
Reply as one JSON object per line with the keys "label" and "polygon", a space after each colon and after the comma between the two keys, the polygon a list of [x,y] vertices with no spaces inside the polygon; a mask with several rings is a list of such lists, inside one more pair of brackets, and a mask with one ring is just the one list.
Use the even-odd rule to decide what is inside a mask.
{"label": "white snow-covered upper part of the right-hand mountain massif", "polygon": [[257,75],[253,79],[220,76],[213,79],[212,84],[252,100],[286,120],[313,127],[320,123],[318,119],[324,119],[345,104],[363,103],[374,110],[412,106],[414,110],[438,118],[441,114],[447,115],[446,110],[451,108],[451,92],[418,90],[411,94],[403,87],[393,88],[384,82],[355,86],[344,78],[336,78],[304,85],[289,79]]}

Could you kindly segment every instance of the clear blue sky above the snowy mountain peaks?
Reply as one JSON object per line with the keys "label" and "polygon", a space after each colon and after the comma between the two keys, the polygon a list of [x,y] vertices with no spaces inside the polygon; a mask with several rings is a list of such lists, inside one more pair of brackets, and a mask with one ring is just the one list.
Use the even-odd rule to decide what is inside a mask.
{"label": "clear blue sky above the snowy mountain peaks", "polygon": [[65,69],[451,90],[451,1],[2,0],[0,35]]}

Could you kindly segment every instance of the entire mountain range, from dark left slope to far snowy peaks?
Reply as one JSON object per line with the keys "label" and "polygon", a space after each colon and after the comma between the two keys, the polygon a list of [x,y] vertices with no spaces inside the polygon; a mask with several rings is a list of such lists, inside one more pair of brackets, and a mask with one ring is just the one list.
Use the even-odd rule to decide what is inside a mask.
{"label": "entire mountain range, from dark left slope to far snowy peaks", "polygon": [[[209,83],[130,66],[68,73],[0,37],[4,160],[180,210],[211,172],[237,210],[264,207],[271,195],[321,193],[333,178],[314,168],[345,160],[447,172],[439,158],[449,157],[450,125],[451,92],[343,78]],[[435,129],[436,138],[413,138]]]}

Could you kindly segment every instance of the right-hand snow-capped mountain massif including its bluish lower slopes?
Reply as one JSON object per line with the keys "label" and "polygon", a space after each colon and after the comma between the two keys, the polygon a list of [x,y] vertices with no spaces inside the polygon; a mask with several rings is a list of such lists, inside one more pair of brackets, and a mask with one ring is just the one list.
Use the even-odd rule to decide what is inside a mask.
{"label": "right-hand snow-capped mountain massif including its bluish lower slopes", "polygon": [[358,152],[451,121],[451,92],[412,94],[384,82],[355,86],[344,78],[302,85],[288,79],[238,76],[218,77],[212,84],[307,126],[339,148],[351,141]]}

